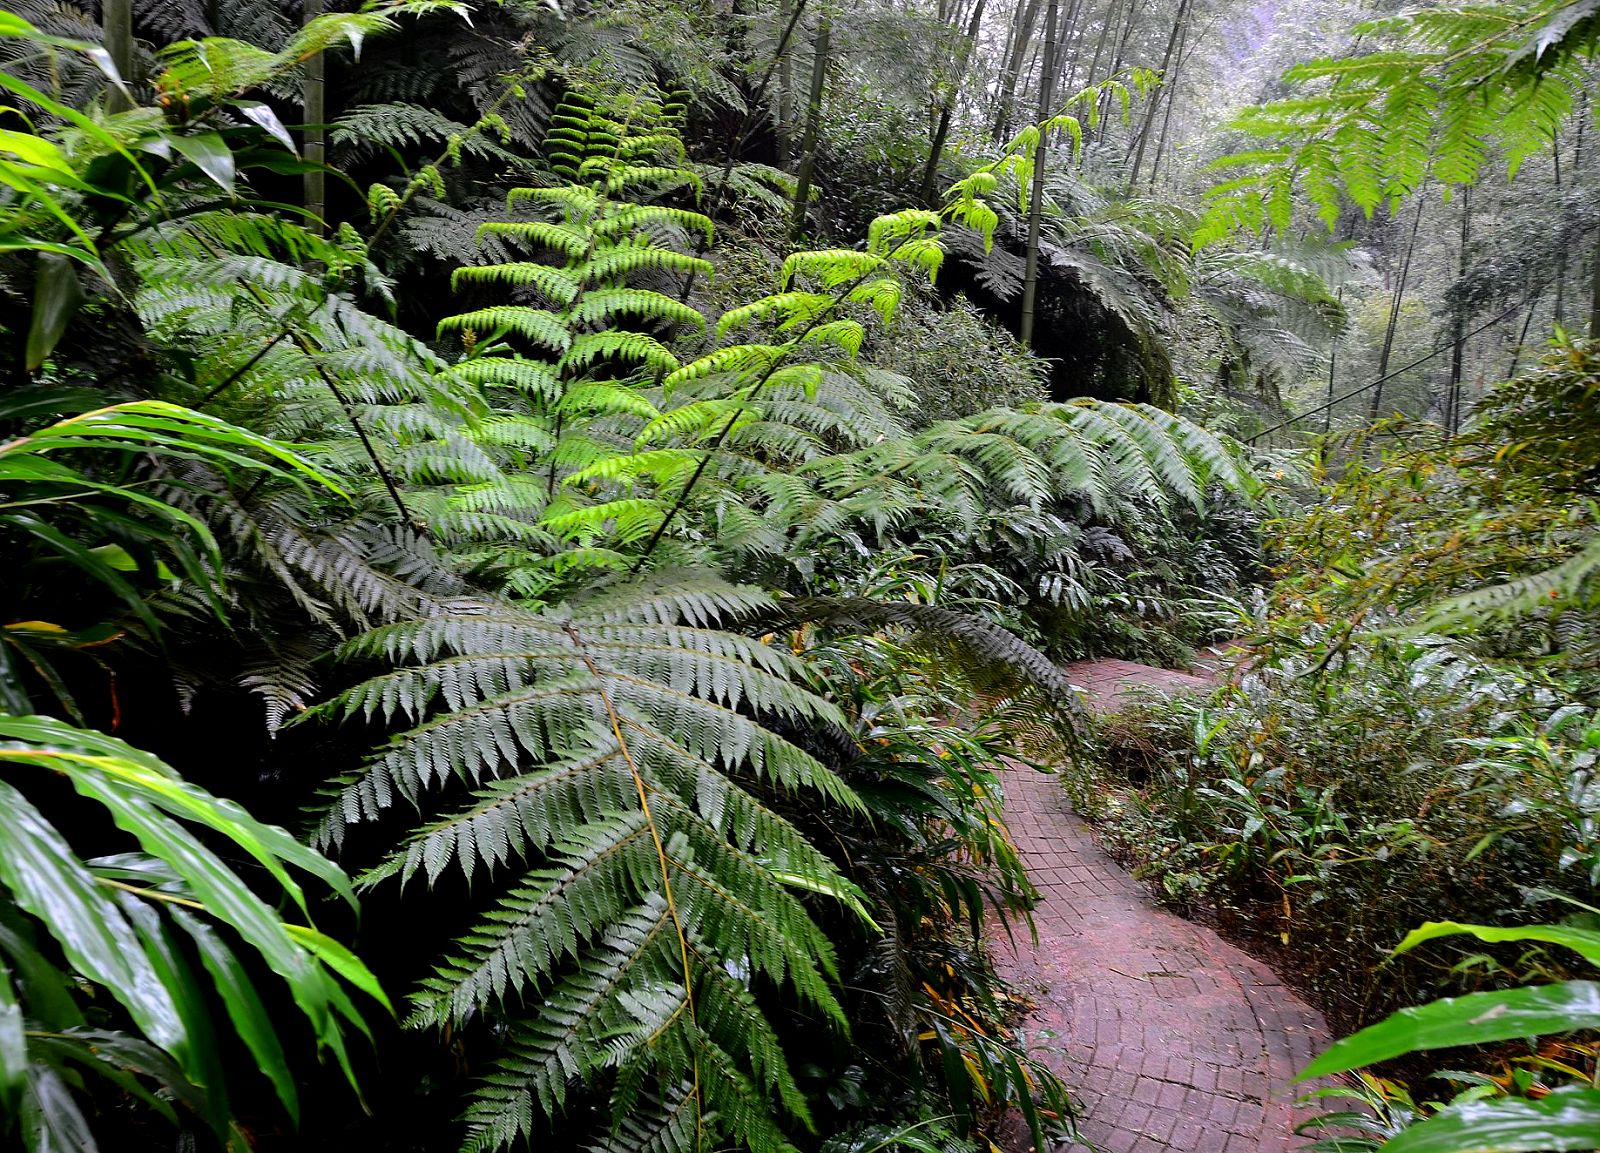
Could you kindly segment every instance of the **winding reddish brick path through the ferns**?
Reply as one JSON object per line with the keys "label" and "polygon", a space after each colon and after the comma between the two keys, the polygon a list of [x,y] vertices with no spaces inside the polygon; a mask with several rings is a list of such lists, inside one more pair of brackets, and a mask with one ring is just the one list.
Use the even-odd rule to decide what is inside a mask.
{"label": "winding reddish brick path through the ferns", "polygon": [[[1206,676],[1128,662],[1067,668],[1091,707],[1131,686]],[[1011,833],[1040,891],[1037,947],[1019,926],[995,961],[1035,1009],[1029,1051],[1072,1086],[1070,1153],[1294,1148],[1294,1073],[1326,1043],[1322,1015],[1211,929],[1155,908],[1090,836],[1053,774],[1005,774]],[[1026,1137],[1008,1142],[1026,1145]]]}

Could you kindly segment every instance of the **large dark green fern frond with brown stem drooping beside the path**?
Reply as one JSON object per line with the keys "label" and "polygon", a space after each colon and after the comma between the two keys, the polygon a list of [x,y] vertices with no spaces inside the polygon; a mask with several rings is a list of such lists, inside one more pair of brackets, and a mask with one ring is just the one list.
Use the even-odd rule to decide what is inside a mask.
{"label": "large dark green fern frond with brown stem drooping beside the path", "polygon": [[859,908],[859,896],[773,798],[859,803],[754,720],[842,724],[794,683],[794,657],[709,627],[763,603],[699,579],[546,616],[462,603],[350,644],[402,665],[323,710],[416,728],[341,785],[320,836],[462,779],[475,800],[368,881],[518,878],[413,998],[419,1025],[510,1017],[469,1148],[526,1137],[573,1083],[610,1095],[613,1137],[642,1123],[642,1094],[675,1102],[696,1147],[781,1150],[778,1118],[806,1124],[771,1009],[730,966],[843,1025],[832,945],[803,897]]}

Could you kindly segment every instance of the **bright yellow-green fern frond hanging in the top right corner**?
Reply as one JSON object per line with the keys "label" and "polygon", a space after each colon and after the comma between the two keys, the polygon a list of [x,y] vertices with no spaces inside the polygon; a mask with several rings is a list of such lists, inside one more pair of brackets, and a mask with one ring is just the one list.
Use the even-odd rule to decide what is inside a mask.
{"label": "bright yellow-green fern frond hanging in the top right corner", "polygon": [[1347,198],[1368,216],[1418,192],[1430,173],[1472,184],[1491,157],[1509,176],[1547,147],[1592,86],[1600,37],[1589,0],[1555,6],[1440,6],[1362,24],[1379,46],[1285,74],[1298,93],[1242,114],[1262,146],[1218,162],[1200,243],[1290,222],[1304,192],[1331,229]]}

